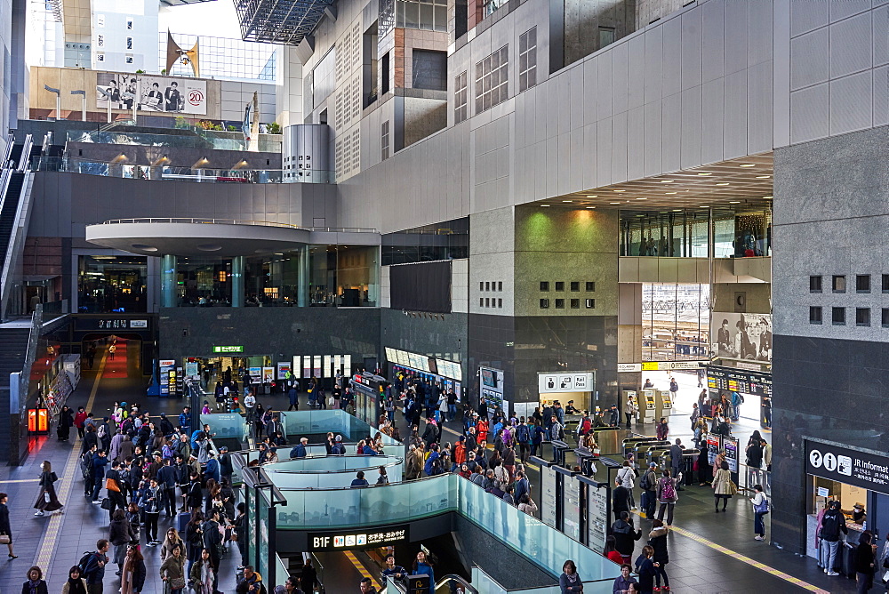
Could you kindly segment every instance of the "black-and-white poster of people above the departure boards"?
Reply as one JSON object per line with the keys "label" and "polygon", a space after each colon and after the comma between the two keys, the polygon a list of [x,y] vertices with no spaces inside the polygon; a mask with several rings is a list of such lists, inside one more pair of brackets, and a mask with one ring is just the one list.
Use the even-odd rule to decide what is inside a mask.
{"label": "black-and-white poster of people above the departure boards", "polygon": [[710,342],[717,357],[772,360],[772,315],[713,312]]}

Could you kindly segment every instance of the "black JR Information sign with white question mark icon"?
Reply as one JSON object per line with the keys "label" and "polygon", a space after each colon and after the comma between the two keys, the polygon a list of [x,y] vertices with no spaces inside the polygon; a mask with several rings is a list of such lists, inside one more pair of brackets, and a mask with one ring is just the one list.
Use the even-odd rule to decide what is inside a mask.
{"label": "black JR Information sign with white question mark icon", "polygon": [[889,458],[805,441],[805,471],[815,477],[889,494]]}

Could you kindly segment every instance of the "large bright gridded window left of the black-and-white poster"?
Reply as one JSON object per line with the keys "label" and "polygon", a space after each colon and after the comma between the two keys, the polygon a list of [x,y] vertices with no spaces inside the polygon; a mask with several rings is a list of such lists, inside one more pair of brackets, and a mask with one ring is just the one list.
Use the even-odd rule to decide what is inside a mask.
{"label": "large bright gridded window left of the black-and-white poster", "polygon": [[642,285],[642,360],[709,357],[709,285]]}

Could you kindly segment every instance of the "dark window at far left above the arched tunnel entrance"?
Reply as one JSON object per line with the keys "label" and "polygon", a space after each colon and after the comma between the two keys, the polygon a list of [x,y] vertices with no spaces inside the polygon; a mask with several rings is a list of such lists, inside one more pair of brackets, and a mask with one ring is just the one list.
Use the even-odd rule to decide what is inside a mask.
{"label": "dark window at far left above the arched tunnel entrance", "polygon": [[96,255],[79,256],[77,261],[79,313],[148,311],[148,258]]}

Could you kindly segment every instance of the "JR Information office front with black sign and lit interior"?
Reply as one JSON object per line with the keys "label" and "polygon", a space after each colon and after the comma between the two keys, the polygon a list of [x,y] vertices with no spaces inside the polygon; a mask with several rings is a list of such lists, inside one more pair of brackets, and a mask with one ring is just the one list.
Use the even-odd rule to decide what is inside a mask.
{"label": "JR Information office front with black sign and lit interior", "polygon": [[818,558],[816,535],[829,502],[840,504],[849,544],[856,544],[865,530],[877,538],[889,532],[889,457],[885,454],[805,439],[805,487],[809,557]]}

